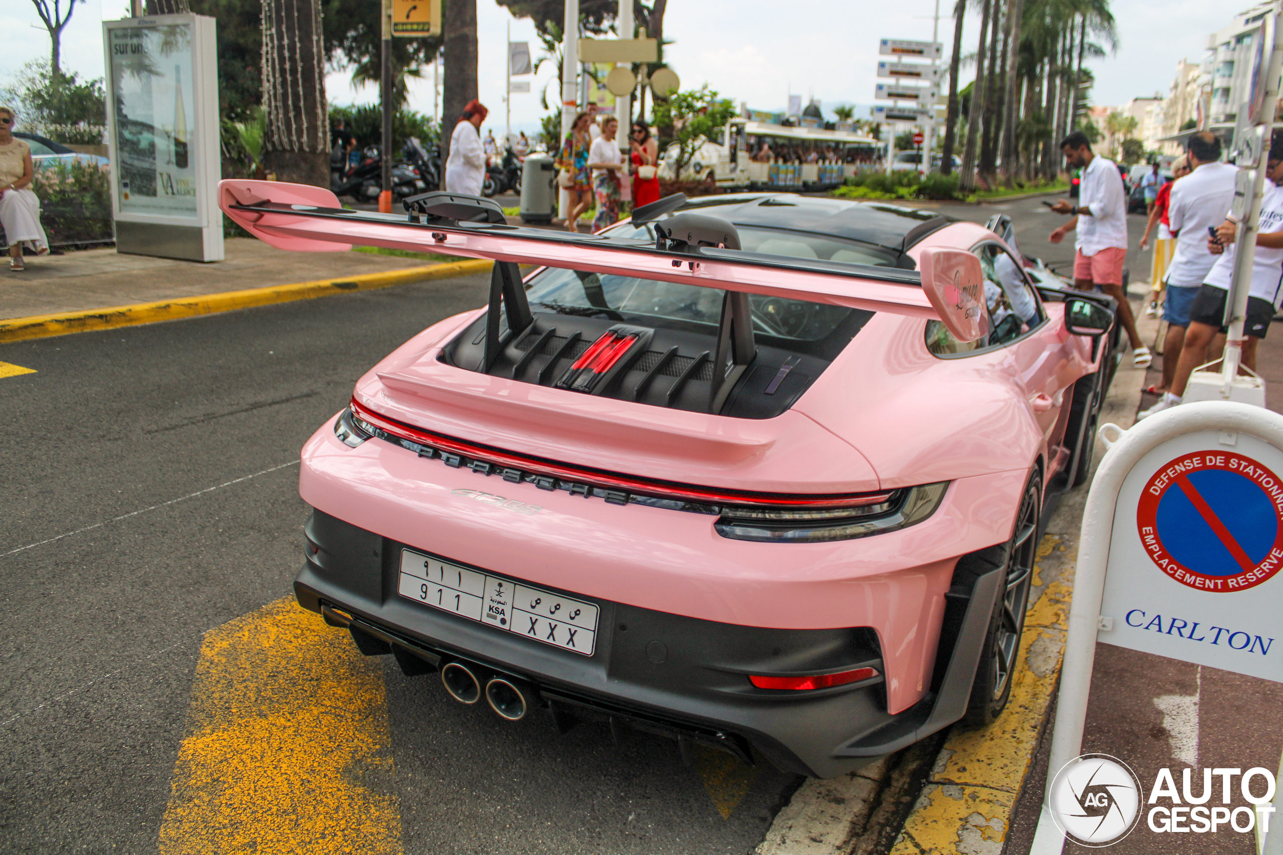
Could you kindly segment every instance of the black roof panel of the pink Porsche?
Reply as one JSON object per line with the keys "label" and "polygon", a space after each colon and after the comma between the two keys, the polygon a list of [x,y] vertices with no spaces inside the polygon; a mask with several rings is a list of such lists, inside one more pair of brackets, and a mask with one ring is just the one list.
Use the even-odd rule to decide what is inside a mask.
{"label": "black roof panel of the pink Porsche", "polygon": [[860,240],[899,253],[955,222],[934,211],[795,193],[735,193],[690,199],[680,211],[699,211],[736,226],[786,229]]}

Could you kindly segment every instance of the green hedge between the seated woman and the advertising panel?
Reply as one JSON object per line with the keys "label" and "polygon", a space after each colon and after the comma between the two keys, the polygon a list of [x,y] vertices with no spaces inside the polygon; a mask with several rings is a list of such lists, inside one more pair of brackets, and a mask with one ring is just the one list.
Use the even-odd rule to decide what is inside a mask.
{"label": "green hedge between the seated woman and the advertising panel", "polygon": [[89,160],[56,163],[36,169],[31,189],[40,196],[40,222],[50,246],[109,243],[112,173]]}

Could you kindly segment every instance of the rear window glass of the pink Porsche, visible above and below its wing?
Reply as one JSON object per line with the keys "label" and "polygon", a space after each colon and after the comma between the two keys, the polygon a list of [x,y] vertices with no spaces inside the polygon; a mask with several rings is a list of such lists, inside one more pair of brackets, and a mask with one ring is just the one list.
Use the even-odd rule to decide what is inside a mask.
{"label": "rear window glass of the pink Porsche, visible above and below its wing", "polygon": [[[736,226],[736,230],[745,252],[880,267],[896,264],[893,253],[853,240],[745,226]],[[654,240],[650,223],[624,223],[609,234]],[[643,318],[648,318],[652,325],[656,318],[708,326],[721,322],[724,291],[716,288],[549,267],[531,277],[526,290],[530,303],[538,304],[536,311],[589,317],[600,315],[615,321],[642,316],[638,322],[647,322]],[[840,306],[760,294],[749,295],[749,308],[756,332],[797,341],[829,336],[853,312],[867,315]]]}

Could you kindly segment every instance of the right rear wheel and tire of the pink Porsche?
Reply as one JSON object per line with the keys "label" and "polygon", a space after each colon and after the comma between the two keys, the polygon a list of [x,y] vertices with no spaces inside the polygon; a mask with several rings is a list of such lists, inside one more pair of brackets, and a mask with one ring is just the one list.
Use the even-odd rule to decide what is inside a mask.
{"label": "right rear wheel and tire of the pink Porsche", "polygon": [[1020,635],[1025,629],[1025,610],[1029,607],[1041,510],[1042,478],[1034,472],[1021,494],[1011,539],[958,560],[955,578],[960,571],[962,575],[979,576],[997,567],[1003,569],[1003,584],[989,619],[989,632],[984,635],[980,662],[971,684],[971,700],[962,715],[962,724],[966,727],[993,724],[1011,698],[1011,684],[1020,669]]}

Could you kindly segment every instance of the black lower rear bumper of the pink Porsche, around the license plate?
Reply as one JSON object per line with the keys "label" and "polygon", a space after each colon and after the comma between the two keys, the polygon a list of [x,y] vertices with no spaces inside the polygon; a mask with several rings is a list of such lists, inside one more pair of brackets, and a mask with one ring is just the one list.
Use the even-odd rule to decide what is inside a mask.
{"label": "black lower rear bumper of the pink Porsche, around the license plate", "polygon": [[[821,778],[858,769],[961,718],[999,582],[997,573],[981,576],[969,601],[951,601],[942,632],[948,666],[937,668],[938,692],[890,715],[878,639],[866,628],[739,626],[593,598],[600,607],[597,651],[585,657],[400,597],[400,543],[321,511],[313,511],[307,535],[307,561],[294,584],[299,603],[346,625],[362,652],[395,653],[408,673],[459,660],[522,678],[538,687],[562,729],[576,718],[606,716],[745,759],[752,745],[783,770]],[[879,677],[806,692],[758,689],[748,680],[862,666],[876,668]]]}

